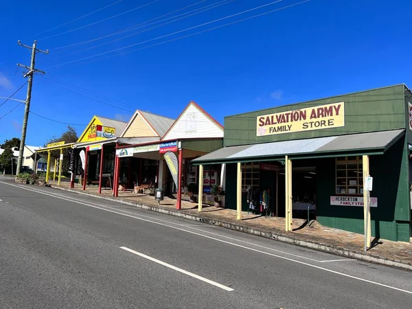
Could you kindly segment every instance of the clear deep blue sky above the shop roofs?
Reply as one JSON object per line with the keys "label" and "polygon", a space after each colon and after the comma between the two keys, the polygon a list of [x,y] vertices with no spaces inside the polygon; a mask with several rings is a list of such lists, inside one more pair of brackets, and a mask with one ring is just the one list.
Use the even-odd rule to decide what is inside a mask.
{"label": "clear deep blue sky above the shop roofs", "polygon": [[[49,55],[38,54],[36,58],[36,67],[47,71],[47,76],[34,78],[31,110],[72,124],[87,124],[93,115],[127,121],[136,108],[177,117],[190,100],[223,123],[225,116],[236,113],[391,84],[412,84],[410,0],[310,0],[255,19],[162,43],[300,1],[280,1],[165,36],[273,2],[233,0],[152,30],[148,28],[174,19],[73,45],[199,2],[159,0],[133,10],[153,1],[122,0],[51,31],[47,30],[115,0],[3,1],[0,19],[3,30],[7,31],[1,32],[0,96],[8,97],[25,82],[22,71],[16,71],[16,63],[29,65],[30,50],[19,47],[18,39],[27,45],[37,39],[38,48],[50,51]],[[201,1],[155,21],[220,2]],[[133,11],[122,14],[127,10]],[[98,22],[115,14],[122,15]],[[30,15],[35,18],[30,19]],[[83,27],[90,23],[95,24]],[[78,27],[82,29],[71,31]],[[141,33],[96,47],[136,32]],[[159,36],[165,37],[153,40]],[[141,43],[144,41],[150,42]],[[141,44],[120,49],[138,43]],[[162,44],[148,47],[156,43]],[[66,45],[73,46],[59,48]],[[94,48],[88,49],[90,47]],[[141,47],[147,48],[128,52]],[[111,52],[114,49],[120,50]],[[91,58],[78,61],[87,57]],[[14,98],[25,99],[25,91],[24,87]],[[9,101],[1,106],[0,117],[16,104]],[[20,137],[22,118],[23,105],[0,119],[0,142]],[[65,124],[30,115],[26,144],[41,146],[47,139],[60,135],[65,127]],[[80,134],[84,126],[75,128]]]}

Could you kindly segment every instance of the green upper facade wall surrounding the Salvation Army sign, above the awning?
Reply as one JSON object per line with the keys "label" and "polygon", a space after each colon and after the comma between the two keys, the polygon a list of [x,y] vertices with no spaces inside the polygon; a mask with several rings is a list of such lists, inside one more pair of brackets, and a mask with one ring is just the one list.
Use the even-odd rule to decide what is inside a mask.
{"label": "green upper facade wall surrounding the Salvation Army sign, above the awning", "polygon": [[[256,117],[260,115],[338,102],[345,102],[345,126],[343,127],[256,136]],[[404,128],[406,123],[405,87],[398,85],[225,117],[225,146],[391,130]]]}

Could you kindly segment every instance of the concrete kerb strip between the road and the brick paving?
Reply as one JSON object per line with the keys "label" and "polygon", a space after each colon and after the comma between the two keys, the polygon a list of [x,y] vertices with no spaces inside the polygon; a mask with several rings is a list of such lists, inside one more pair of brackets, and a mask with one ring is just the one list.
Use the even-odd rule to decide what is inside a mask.
{"label": "concrete kerb strip between the road and the brick paving", "polygon": [[306,247],[306,248],[314,249],[314,250],[317,250],[317,251],[332,253],[334,255],[343,256],[345,258],[352,258],[352,259],[361,260],[361,261],[365,261],[365,262],[371,262],[371,263],[374,263],[374,264],[382,264],[382,265],[386,265],[386,266],[393,266],[393,267],[403,268],[403,269],[407,269],[409,271],[412,271],[412,264],[407,264],[407,263],[403,263],[402,261],[398,262],[394,259],[391,260],[389,258],[380,257],[379,255],[376,255],[376,254],[373,254],[373,253],[369,253],[369,254],[368,253],[367,254],[359,253],[357,251],[348,250],[348,249],[333,246],[333,245],[330,245],[330,244],[323,244],[323,243],[319,243],[319,242],[311,242],[311,241],[308,241],[308,240],[301,240],[301,239],[299,239],[295,236],[286,235],[286,234],[284,234],[282,232],[279,232],[279,231],[256,229],[256,228],[248,227],[248,226],[245,226],[245,225],[239,225],[238,223],[227,222],[227,221],[224,221],[224,220],[216,220],[214,218],[207,218],[207,217],[201,216],[201,215],[186,214],[185,212],[183,212],[184,210],[177,211],[177,210],[173,210],[173,209],[163,208],[163,207],[161,207],[161,205],[159,205],[159,206],[144,205],[144,204],[141,204],[141,203],[124,201],[120,198],[113,198],[113,197],[108,197],[108,196],[99,196],[97,194],[91,194],[91,193],[88,193],[88,192],[79,192],[78,190],[71,190],[71,189],[67,189],[65,187],[53,187],[53,188],[68,191],[68,192],[74,192],[74,193],[85,195],[85,196],[93,196],[95,198],[102,198],[103,200],[106,200],[106,201],[113,201],[115,203],[119,203],[119,204],[123,204],[123,205],[128,205],[128,206],[133,206],[133,207],[137,207],[137,208],[141,208],[141,209],[155,211],[155,212],[159,212],[160,214],[168,214],[168,215],[176,216],[176,217],[179,217],[179,218],[185,218],[187,220],[194,220],[194,221],[198,221],[198,222],[203,222],[203,223],[208,224],[208,225],[216,225],[218,227],[225,227],[226,229],[231,229],[231,230],[234,230],[234,231],[241,231],[242,233],[248,233],[248,234],[255,235],[255,236],[260,236],[260,237],[263,237],[263,238],[277,240],[279,242],[286,242],[288,244],[295,244],[299,247]]}

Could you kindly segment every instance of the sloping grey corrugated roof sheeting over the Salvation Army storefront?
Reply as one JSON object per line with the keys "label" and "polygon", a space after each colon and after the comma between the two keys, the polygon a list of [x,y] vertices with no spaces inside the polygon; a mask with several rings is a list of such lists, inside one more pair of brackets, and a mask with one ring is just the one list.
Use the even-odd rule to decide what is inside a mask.
{"label": "sloping grey corrugated roof sheeting over the Salvation Army storefront", "polygon": [[203,157],[192,160],[220,161],[253,157],[278,157],[319,152],[337,152],[344,150],[383,149],[404,133],[404,129],[387,130],[371,133],[359,133],[314,139],[295,139],[291,141],[275,141],[272,143],[247,146],[225,147]]}

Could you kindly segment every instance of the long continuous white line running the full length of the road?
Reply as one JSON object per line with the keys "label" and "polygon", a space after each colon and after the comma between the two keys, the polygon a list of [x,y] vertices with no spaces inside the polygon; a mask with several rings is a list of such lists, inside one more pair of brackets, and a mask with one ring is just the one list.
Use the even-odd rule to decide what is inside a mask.
{"label": "long continuous white line running the full length of the road", "polygon": [[142,220],[142,221],[145,221],[145,222],[151,222],[151,223],[153,223],[153,224],[162,225],[162,226],[164,226],[164,227],[170,227],[171,229],[177,229],[177,230],[179,230],[179,231],[185,231],[186,233],[191,233],[191,234],[194,234],[194,235],[197,235],[197,236],[201,236],[201,237],[204,237],[204,238],[209,238],[209,239],[211,239],[211,240],[216,240],[216,241],[218,241],[218,242],[222,242],[222,243],[225,243],[225,244],[231,244],[231,245],[234,246],[234,247],[240,247],[240,248],[247,249],[247,250],[250,250],[250,251],[255,251],[255,252],[258,252],[258,253],[265,254],[265,255],[270,255],[270,256],[273,256],[273,257],[275,257],[275,258],[279,258],[279,259],[282,259],[282,260],[287,260],[287,261],[289,261],[289,262],[295,262],[295,263],[297,263],[297,264],[302,264],[302,265],[306,265],[306,266],[309,266],[309,267],[312,267],[312,268],[317,268],[317,269],[320,269],[320,270],[322,270],[322,271],[326,271],[326,272],[328,272],[328,273],[334,273],[335,275],[341,275],[341,276],[343,276],[343,277],[348,277],[348,278],[351,278],[351,279],[356,279],[356,280],[359,280],[359,281],[362,281],[362,282],[367,282],[367,283],[369,283],[369,284],[374,284],[374,285],[376,285],[376,286],[382,286],[382,287],[384,287],[384,288],[389,288],[389,289],[391,289],[391,290],[398,290],[398,291],[400,291],[400,292],[403,292],[403,293],[407,293],[407,294],[412,295],[412,291],[410,291],[410,290],[403,290],[402,288],[396,288],[396,287],[394,287],[394,286],[388,286],[388,285],[386,285],[386,284],[380,284],[379,282],[374,282],[374,281],[371,281],[371,280],[363,279],[363,278],[361,278],[361,277],[355,277],[355,276],[352,276],[352,275],[347,275],[347,274],[345,274],[345,273],[340,273],[339,271],[332,271],[332,269],[323,268],[323,267],[321,267],[321,266],[309,264],[309,263],[306,263],[306,262],[301,262],[301,261],[298,261],[298,260],[293,260],[293,259],[291,259],[291,258],[286,258],[286,257],[284,257],[284,256],[282,256],[282,255],[275,255],[275,254],[273,254],[273,253],[268,253],[268,252],[260,251],[260,250],[258,250],[258,249],[253,249],[253,248],[245,247],[245,246],[242,246],[242,245],[240,245],[240,244],[235,244],[235,243],[233,243],[233,242],[227,242],[227,241],[225,241],[225,240],[220,240],[220,239],[218,239],[218,238],[213,238],[213,237],[211,237],[211,236],[207,236],[207,235],[203,235],[203,234],[200,234],[200,233],[196,233],[196,232],[194,232],[194,231],[187,231],[187,230],[181,229],[181,228],[179,228],[179,227],[173,227],[173,226],[171,226],[171,225],[165,225],[165,224],[163,224],[163,223],[161,223],[161,222],[155,222],[155,221],[152,221],[152,220],[148,220],[148,219],[144,219],[144,218],[139,218],[139,217],[137,217],[137,216],[131,216],[131,215],[128,215],[128,214],[122,214],[122,213],[119,212],[119,211],[113,211],[113,210],[110,210],[110,209],[104,209],[104,208],[102,208],[102,207],[97,207],[97,206],[94,206],[94,205],[90,205],[90,204],[87,204],[87,203],[81,203],[81,202],[78,202],[78,201],[72,201],[72,200],[69,200],[68,198],[62,198],[62,197],[58,197],[58,196],[53,196],[52,194],[47,194],[47,193],[45,193],[45,192],[40,192],[40,191],[36,191],[36,190],[30,190],[30,189],[28,189],[28,188],[26,188],[26,187],[23,187],[23,186],[12,185],[11,183],[4,183],[4,182],[2,182],[2,181],[0,181],[0,183],[3,183],[4,185],[10,185],[10,186],[13,186],[13,187],[19,187],[19,188],[21,188],[21,189],[23,189],[23,190],[36,192],[36,193],[38,193],[38,194],[44,194],[44,195],[47,195],[47,196],[52,196],[52,197],[54,197],[54,198],[60,198],[60,199],[62,199],[62,200],[69,201],[69,202],[71,202],[71,203],[77,203],[77,204],[80,204],[80,205],[85,205],[85,206],[93,207],[93,208],[96,208],[96,209],[101,209],[101,210],[104,210],[104,211],[112,212],[113,214],[119,214],[119,215],[121,215],[121,216],[126,216],[126,217],[129,217],[129,218],[135,218],[135,219],[137,219],[137,220]]}

